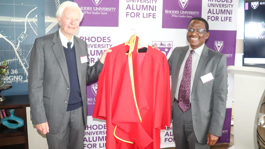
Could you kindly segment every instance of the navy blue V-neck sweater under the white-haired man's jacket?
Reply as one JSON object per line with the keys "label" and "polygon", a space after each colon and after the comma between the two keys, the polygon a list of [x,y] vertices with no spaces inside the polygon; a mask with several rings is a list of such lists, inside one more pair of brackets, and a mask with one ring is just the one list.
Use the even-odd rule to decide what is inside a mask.
{"label": "navy blue V-neck sweater under the white-haired man's jacket", "polygon": [[77,108],[80,108],[83,105],[83,102],[77,74],[76,53],[74,46],[72,47],[72,49],[67,49],[64,46],[63,48],[70,81],[70,95],[66,111],[72,111]]}

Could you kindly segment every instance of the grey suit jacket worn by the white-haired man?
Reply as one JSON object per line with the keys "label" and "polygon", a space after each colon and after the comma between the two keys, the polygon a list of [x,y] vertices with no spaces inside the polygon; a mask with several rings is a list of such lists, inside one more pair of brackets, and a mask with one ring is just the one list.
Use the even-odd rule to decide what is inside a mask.
{"label": "grey suit jacket worn by the white-haired man", "polygon": [[[78,79],[83,99],[83,124],[87,123],[86,84],[96,81],[103,64],[98,60],[93,66],[82,63],[80,56],[87,55],[87,43],[74,36]],[[59,132],[65,117],[70,83],[67,63],[59,30],[36,38],[29,62],[28,91],[32,124],[48,122],[51,134]]]}

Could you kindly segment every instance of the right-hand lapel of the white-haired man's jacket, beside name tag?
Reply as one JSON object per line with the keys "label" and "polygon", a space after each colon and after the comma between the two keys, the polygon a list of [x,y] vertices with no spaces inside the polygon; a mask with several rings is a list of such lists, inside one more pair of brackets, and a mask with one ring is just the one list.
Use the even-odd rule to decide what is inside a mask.
{"label": "right-hand lapel of the white-haired man's jacket, beside name tag", "polygon": [[[76,39],[77,37],[74,36],[74,49],[75,49],[75,54],[76,54],[76,67],[77,67],[77,74],[78,74],[78,80],[79,80],[79,85],[80,85],[80,88],[81,88],[81,78],[82,78],[82,67],[81,67],[81,59],[80,59],[80,56],[83,56],[81,55],[82,52],[81,52],[81,46],[79,45],[79,42],[78,40]],[[83,94],[82,94],[83,95]]]}

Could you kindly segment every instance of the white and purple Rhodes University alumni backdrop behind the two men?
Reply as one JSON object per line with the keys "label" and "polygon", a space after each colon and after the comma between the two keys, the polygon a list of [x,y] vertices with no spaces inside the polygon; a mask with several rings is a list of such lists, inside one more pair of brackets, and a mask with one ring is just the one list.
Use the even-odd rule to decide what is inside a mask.
{"label": "white and purple Rhodes University alumni backdrop behind the two men", "polygon": [[[85,40],[93,65],[104,50],[127,42],[135,34],[147,45],[156,45],[167,58],[173,49],[189,45],[186,28],[193,17],[204,17],[209,22],[206,45],[226,54],[227,65],[234,65],[238,0],[75,0],[85,13],[76,36]],[[105,148],[106,123],[92,119],[97,82],[87,86],[88,119],[84,134],[84,148]],[[227,109],[232,107],[233,78],[228,77]],[[230,126],[227,112],[226,128]],[[231,121],[231,120],[230,120]],[[103,126],[103,127],[102,127]],[[224,126],[223,136],[230,141],[230,129]],[[228,135],[229,136],[225,136]],[[172,124],[161,130],[161,148],[175,147]],[[229,140],[227,140],[229,138]]]}

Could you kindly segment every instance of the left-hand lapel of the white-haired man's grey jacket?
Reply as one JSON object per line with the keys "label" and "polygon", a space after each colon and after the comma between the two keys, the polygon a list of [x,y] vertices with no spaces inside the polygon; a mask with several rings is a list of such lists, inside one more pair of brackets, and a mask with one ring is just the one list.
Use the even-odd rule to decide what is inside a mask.
{"label": "left-hand lapel of the white-haired man's grey jacket", "polygon": [[66,64],[66,59],[64,55],[64,49],[62,42],[60,40],[60,35],[59,35],[59,30],[54,33],[54,36],[52,38],[52,42],[54,45],[52,46],[52,50],[54,51],[55,57],[58,60],[58,63],[61,67],[61,70],[63,71],[64,77],[70,86],[70,81],[69,81],[69,75],[68,75],[68,69],[67,69],[67,64]]}

